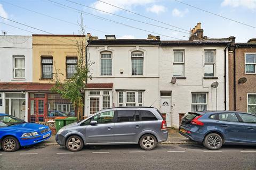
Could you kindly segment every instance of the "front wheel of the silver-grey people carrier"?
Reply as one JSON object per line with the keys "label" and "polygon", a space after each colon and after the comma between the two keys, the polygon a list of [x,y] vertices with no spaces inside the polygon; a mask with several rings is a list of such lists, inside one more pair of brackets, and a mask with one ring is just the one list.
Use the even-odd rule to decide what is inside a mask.
{"label": "front wheel of the silver-grey people carrier", "polygon": [[70,151],[79,151],[83,149],[84,147],[84,142],[81,137],[78,137],[77,135],[72,135],[67,139],[66,142],[66,148]]}

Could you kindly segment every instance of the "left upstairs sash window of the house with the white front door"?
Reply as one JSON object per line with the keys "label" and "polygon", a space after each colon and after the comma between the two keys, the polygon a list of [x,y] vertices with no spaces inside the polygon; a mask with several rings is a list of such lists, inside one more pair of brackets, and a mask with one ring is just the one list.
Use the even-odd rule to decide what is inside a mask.
{"label": "left upstairs sash window of the house with the white front door", "polygon": [[184,51],[173,52],[173,77],[184,77]]}

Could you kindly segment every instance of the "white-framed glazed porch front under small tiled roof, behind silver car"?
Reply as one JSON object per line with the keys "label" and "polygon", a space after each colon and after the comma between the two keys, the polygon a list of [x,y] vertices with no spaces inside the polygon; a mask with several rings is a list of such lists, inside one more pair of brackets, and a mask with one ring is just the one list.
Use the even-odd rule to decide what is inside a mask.
{"label": "white-framed glazed porch front under small tiled roof, behind silver car", "polygon": [[111,90],[90,90],[89,96],[89,113],[94,114],[99,112],[101,109],[111,107],[112,92]]}

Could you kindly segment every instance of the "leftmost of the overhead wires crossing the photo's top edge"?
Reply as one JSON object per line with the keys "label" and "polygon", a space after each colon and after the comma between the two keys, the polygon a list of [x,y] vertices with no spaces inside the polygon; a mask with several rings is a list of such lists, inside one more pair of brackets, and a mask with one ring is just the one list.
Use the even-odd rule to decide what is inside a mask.
{"label": "leftmost of the overhead wires crossing the photo's top edge", "polygon": [[71,8],[71,9],[73,9],[73,10],[78,11],[79,13],[81,13],[81,12],[82,12],[83,14],[89,14],[89,15],[91,15],[91,16],[94,16],[95,18],[100,18],[100,19],[103,19],[103,20],[106,20],[106,21],[114,22],[114,23],[116,23],[116,24],[125,25],[126,27],[130,27],[130,28],[138,29],[138,30],[145,31],[145,32],[154,33],[154,34],[157,34],[157,35],[160,35],[160,36],[164,36],[164,37],[169,37],[169,38],[173,38],[173,39],[182,40],[182,39],[180,39],[180,38],[175,38],[175,37],[171,37],[171,36],[163,35],[163,34],[161,34],[161,33],[153,32],[153,31],[148,31],[148,30],[145,30],[145,29],[141,29],[141,28],[138,28],[138,27],[134,27],[134,26],[132,26],[132,25],[127,25],[127,24],[122,23],[122,22],[118,22],[118,21],[114,21],[114,20],[107,19],[107,18],[103,18],[103,17],[101,17],[101,16],[99,16],[99,15],[94,15],[94,14],[91,14],[91,13],[89,13],[89,12],[84,12],[84,11],[81,11],[81,10],[77,10],[77,9],[76,9],[76,8],[74,8],[74,7],[71,7],[71,6],[68,6],[68,5],[64,5],[64,4],[61,4],[61,3],[55,2],[55,1],[51,1],[51,0],[48,0],[48,1],[50,1],[50,2],[52,2],[52,3],[55,3],[55,4],[62,5],[62,6],[66,6],[66,7],[68,7],[68,8]]}

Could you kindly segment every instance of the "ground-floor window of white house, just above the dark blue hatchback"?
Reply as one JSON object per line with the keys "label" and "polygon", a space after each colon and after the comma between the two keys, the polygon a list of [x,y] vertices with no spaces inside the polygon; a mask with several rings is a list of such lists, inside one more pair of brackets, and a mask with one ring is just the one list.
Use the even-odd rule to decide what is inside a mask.
{"label": "ground-floor window of white house, just above the dark blue hatchback", "polygon": [[207,94],[205,92],[192,93],[191,111],[206,111],[207,110]]}

